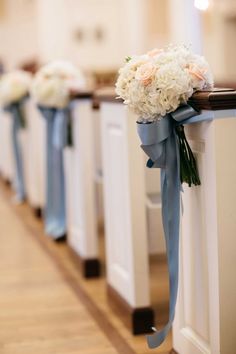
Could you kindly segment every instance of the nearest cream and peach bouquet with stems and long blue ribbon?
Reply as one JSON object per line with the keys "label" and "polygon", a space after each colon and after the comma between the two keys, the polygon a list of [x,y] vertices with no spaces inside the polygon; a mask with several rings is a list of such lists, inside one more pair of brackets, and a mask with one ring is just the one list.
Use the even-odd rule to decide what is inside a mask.
{"label": "nearest cream and peach bouquet with stems and long blue ribbon", "polygon": [[170,284],[169,320],[162,329],[154,329],[156,333],[147,337],[150,348],[165,340],[175,316],[181,183],[200,185],[195,157],[183,126],[199,112],[188,99],[195,91],[212,86],[213,78],[206,60],[185,46],[169,46],[128,57],[116,83],[119,98],[138,115],[138,133],[149,157],[147,166],[161,169],[162,220]]}

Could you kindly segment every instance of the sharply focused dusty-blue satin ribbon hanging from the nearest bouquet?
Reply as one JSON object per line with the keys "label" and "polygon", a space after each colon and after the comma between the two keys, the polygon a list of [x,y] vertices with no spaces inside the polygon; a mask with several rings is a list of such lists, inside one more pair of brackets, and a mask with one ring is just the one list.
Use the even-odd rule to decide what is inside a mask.
{"label": "sharply focused dusty-blue satin ribbon hanging from the nearest bouquet", "polygon": [[169,268],[169,320],[160,331],[147,336],[150,348],[158,347],[167,337],[174,317],[179,277],[179,226],[180,226],[180,160],[175,131],[177,125],[187,123],[198,114],[184,105],[162,120],[137,123],[142,149],[149,156],[148,167],[161,169],[162,220]]}

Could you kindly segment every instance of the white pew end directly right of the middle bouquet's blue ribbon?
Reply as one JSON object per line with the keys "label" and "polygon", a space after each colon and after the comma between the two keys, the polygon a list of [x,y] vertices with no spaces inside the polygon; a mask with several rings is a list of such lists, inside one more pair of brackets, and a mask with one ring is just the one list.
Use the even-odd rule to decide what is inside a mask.
{"label": "white pew end directly right of the middle bouquet's blue ribbon", "polygon": [[85,276],[99,275],[93,118],[91,100],[76,100],[73,147],[65,149],[68,242],[83,262]]}

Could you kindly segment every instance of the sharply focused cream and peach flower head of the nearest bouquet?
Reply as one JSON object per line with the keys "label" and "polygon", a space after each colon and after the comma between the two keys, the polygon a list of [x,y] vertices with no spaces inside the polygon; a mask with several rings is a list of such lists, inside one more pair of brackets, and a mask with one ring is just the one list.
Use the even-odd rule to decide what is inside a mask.
{"label": "sharply focused cream and peach flower head of the nearest bouquet", "polygon": [[161,119],[196,90],[213,86],[209,64],[185,46],[169,46],[127,59],[116,92],[141,119]]}

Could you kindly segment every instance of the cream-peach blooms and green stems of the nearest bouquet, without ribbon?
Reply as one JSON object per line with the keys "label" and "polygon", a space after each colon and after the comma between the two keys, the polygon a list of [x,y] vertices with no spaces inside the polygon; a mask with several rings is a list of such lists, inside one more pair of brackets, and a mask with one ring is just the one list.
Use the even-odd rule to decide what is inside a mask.
{"label": "cream-peach blooms and green stems of the nearest bouquet, without ribbon", "polygon": [[[175,120],[180,112],[191,111],[186,104],[193,93],[212,86],[213,77],[204,57],[194,54],[187,46],[170,45],[144,55],[127,57],[119,71],[116,92],[138,115],[139,124],[152,124],[158,130],[158,121],[170,117]],[[175,133],[180,148],[181,182],[198,185],[196,161],[181,124],[176,124]],[[153,164],[154,161],[149,159],[148,167]]]}

